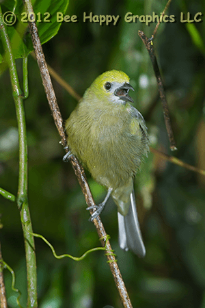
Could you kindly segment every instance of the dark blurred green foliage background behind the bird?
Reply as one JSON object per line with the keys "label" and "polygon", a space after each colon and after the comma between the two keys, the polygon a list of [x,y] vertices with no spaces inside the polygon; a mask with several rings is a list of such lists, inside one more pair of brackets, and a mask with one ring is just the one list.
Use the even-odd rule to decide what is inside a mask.
{"label": "dark blurred green foliage background behind the bird", "polygon": [[[6,2],[6,1],[5,1]],[[105,70],[123,70],[135,88],[135,107],[148,125],[152,146],[205,169],[204,84],[205,27],[180,23],[180,13],[204,13],[205,2],[172,1],[168,15],[176,23],[162,23],[154,39],[178,151],[170,153],[163,111],[148,52],[137,31],[150,37],[155,23],[126,23],[127,12],[160,14],[166,1],[73,1],[66,14],[78,23],[62,23],[58,34],[44,44],[46,61],[83,95]],[[83,23],[83,12],[120,15],[117,26]],[[203,17],[202,17],[203,20]],[[191,27],[190,27],[191,26]],[[22,60],[16,60],[22,84]],[[66,120],[77,101],[53,80],[61,114]],[[0,187],[16,195],[18,131],[10,77],[0,77]],[[80,256],[99,246],[94,225],[88,222],[85,200],[70,164],[61,158],[59,144],[38,66],[29,57],[29,98],[25,100],[29,154],[29,205],[33,230],[55,246],[57,254]],[[96,203],[105,190],[87,174]],[[204,177],[154,157],[150,153],[136,177],[137,204],[147,255],[138,259],[118,246],[117,211],[112,201],[102,222],[131,296],[133,307],[205,307]],[[16,287],[26,305],[26,269],[20,216],[15,203],[0,196],[3,259],[16,272]],[[102,251],[81,262],[57,260],[36,239],[39,307],[122,307]],[[16,307],[10,273],[4,271],[9,307]]]}

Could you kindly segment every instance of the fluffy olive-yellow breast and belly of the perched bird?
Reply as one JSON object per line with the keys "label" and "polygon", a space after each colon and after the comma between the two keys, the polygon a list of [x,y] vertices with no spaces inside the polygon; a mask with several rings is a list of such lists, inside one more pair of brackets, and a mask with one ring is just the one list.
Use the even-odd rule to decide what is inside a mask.
{"label": "fluffy olive-yellow breast and belly of the perched bird", "polygon": [[[109,187],[124,185],[137,172],[141,160],[141,136],[131,114],[124,109],[81,110],[70,123],[73,153],[90,170],[92,177]],[[77,123],[78,122],[78,123]]]}

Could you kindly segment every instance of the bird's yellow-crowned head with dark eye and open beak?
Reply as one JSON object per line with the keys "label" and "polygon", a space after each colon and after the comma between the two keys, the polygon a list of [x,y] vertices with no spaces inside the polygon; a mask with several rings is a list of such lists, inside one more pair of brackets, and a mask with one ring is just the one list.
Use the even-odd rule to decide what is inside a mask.
{"label": "bird's yellow-crowned head with dark eye and open beak", "polygon": [[109,70],[98,76],[87,90],[102,101],[125,104],[127,101],[133,103],[128,94],[130,89],[134,91],[129,84],[129,77],[124,72]]}

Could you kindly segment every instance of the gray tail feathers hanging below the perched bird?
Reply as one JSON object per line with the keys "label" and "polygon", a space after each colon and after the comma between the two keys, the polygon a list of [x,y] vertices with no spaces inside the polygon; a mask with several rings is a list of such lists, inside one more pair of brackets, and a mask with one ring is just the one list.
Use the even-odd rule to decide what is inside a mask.
{"label": "gray tail feathers hanging below the perched bird", "polygon": [[138,257],[145,257],[146,248],[143,244],[139,221],[137,218],[137,209],[135,201],[135,192],[131,193],[131,205],[126,216],[118,212],[119,244],[120,248],[128,251],[131,249]]}

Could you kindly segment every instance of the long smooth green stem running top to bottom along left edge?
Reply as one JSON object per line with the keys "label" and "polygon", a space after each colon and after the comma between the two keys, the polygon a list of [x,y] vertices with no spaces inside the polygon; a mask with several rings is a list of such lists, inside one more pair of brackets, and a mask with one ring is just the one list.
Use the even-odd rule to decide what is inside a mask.
{"label": "long smooth green stem running top to bottom along left edge", "polygon": [[[23,236],[25,240],[25,253],[27,263],[27,307],[37,307],[37,281],[36,281],[36,255],[33,235],[25,230],[25,222],[31,222],[29,214],[29,205],[27,201],[27,136],[25,125],[25,112],[23,107],[23,97],[18,81],[16,63],[12,54],[10,38],[3,24],[2,11],[0,5],[0,37],[5,51],[5,60],[10,70],[12,83],[12,92],[16,107],[16,118],[18,123],[19,135],[19,179],[17,205],[20,210],[20,219],[23,227]],[[23,210],[22,205],[25,203]],[[32,232],[31,223],[28,225],[29,231]]]}

